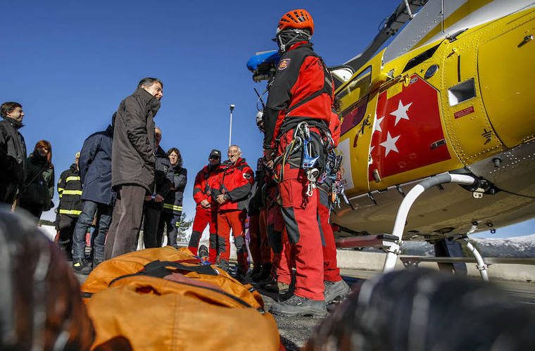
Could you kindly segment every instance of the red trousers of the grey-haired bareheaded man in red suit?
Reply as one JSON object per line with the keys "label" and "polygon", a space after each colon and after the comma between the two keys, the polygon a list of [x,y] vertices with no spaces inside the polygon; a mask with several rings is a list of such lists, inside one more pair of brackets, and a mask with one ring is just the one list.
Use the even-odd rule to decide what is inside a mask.
{"label": "red trousers of the grey-haired bareheaded man in red suit", "polygon": [[245,218],[243,210],[228,210],[218,212],[218,253],[221,260],[229,260],[230,257],[230,229],[234,236],[234,245],[238,256],[238,269],[246,273],[249,264],[247,262],[247,248],[245,246]]}

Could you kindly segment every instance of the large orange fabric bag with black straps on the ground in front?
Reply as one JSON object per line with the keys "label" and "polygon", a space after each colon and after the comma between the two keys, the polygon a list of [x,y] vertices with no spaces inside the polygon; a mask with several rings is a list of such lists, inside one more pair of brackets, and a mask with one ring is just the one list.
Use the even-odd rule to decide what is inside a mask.
{"label": "large orange fabric bag with black straps on the ground in front", "polygon": [[92,348],[118,339],[132,350],[282,348],[260,294],[187,249],[151,248],[102,262],[81,291],[96,331]]}

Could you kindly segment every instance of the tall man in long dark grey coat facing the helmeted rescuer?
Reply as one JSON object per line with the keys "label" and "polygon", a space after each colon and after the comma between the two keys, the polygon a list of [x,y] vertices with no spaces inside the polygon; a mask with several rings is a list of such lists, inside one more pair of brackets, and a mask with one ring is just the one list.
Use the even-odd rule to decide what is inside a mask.
{"label": "tall man in long dark grey coat facing the helmeted rescuer", "polygon": [[106,239],[106,260],[135,249],[144,198],[153,191],[156,160],[153,117],[160,108],[162,96],[160,79],[141,79],[134,94],[121,101],[115,115],[111,186],[117,191],[117,200]]}

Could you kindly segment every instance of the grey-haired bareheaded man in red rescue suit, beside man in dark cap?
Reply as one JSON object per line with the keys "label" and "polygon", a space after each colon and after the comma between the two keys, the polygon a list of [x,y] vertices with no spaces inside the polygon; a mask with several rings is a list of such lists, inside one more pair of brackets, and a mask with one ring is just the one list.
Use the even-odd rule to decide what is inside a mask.
{"label": "grey-haired bareheaded man in red rescue suit, beside man in dark cap", "polygon": [[254,173],[241,158],[241,149],[232,145],[228,149],[229,160],[221,172],[218,181],[212,186],[212,198],[218,203],[218,253],[219,265],[228,269],[230,255],[229,234],[232,228],[234,245],[238,256],[239,279],[243,279],[247,270],[247,248],[245,245],[246,205],[249,191],[253,185]]}

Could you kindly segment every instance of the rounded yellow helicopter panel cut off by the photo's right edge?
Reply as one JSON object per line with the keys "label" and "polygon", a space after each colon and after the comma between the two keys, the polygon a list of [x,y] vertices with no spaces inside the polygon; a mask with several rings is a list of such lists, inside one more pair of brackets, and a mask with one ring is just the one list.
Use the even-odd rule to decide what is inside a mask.
{"label": "rounded yellow helicopter panel cut off by the photo's right edge", "polygon": [[519,17],[488,30],[477,57],[486,112],[508,148],[535,137],[535,11]]}

